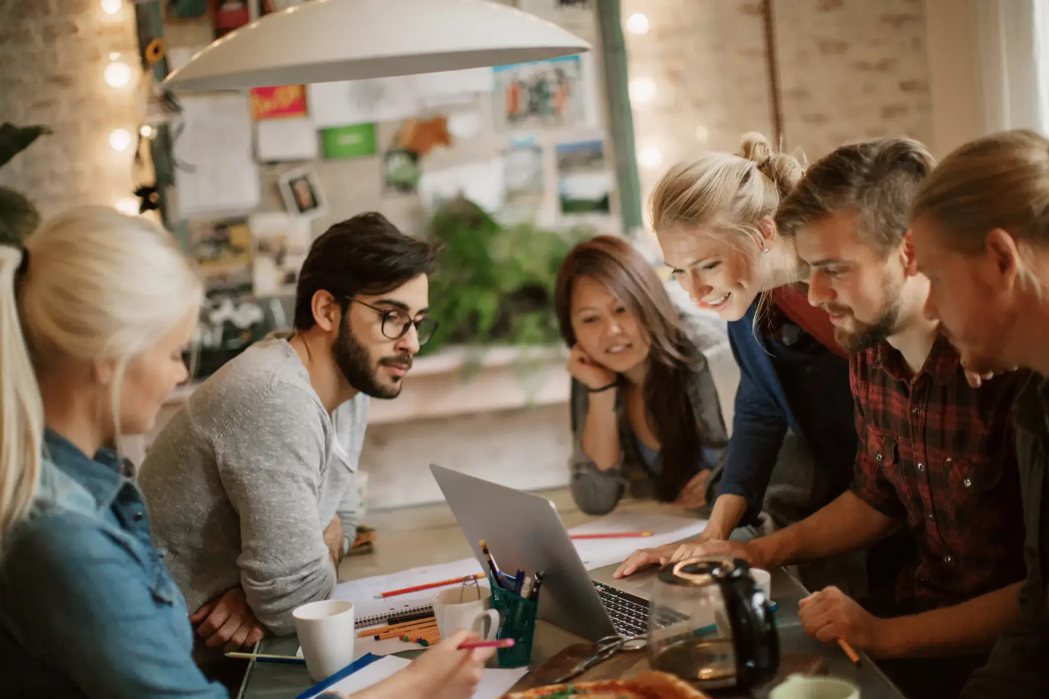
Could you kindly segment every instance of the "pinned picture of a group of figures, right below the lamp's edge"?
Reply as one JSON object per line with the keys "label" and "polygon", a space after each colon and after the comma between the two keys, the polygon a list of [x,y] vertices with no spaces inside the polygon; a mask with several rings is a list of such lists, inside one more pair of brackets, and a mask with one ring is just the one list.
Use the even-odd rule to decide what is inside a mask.
{"label": "pinned picture of a group of figures, right below the lamp's edge", "polygon": [[498,130],[581,127],[586,90],[578,56],[495,66],[493,110]]}

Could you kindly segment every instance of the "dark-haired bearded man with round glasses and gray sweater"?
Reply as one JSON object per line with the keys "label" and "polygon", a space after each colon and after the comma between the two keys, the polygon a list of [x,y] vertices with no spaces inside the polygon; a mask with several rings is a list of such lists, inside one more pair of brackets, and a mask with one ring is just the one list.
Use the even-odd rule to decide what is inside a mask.
{"label": "dark-haired bearded man with round glasses and gray sweater", "polygon": [[381,214],[333,225],[302,265],[294,331],[208,378],[151,445],[138,482],[214,679],[242,675],[223,649],[293,633],[292,611],[335,588],[368,398],[395,398],[436,330],[436,254]]}

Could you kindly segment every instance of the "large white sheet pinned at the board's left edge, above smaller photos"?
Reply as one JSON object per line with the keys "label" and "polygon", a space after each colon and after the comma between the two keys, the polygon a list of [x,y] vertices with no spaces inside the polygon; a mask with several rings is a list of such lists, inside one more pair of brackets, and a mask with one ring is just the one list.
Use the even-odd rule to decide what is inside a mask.
{"label": "large white sheet pinned at the board's left edge, above smaller photos", "polygon": [[177,217],[255,209],[261,187],[248,95],[189,95],[181,97],[181,131],[172,145]]}

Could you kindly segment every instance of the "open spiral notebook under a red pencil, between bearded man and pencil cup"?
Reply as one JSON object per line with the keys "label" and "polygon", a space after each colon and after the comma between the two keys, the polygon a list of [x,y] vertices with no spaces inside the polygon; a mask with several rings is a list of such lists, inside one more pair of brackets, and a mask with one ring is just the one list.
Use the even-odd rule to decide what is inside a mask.
{"label": "open spiral notebook under a red pencil, between bearded man and pencil cup", "polygon": [[341,583],[336,586],[331,598],[354,603],[354,625],[359,629],[366,629],[388,624],[390,617],[432,612],[433,606],[430,600],[446,588],[430,588],[385,598],[381,596],[382,593],[440,583],[453,577],[466,577],[479,572],[483,571],[476,559],[462,559],[436,566],[410,568],[389,575],[374,575]]}

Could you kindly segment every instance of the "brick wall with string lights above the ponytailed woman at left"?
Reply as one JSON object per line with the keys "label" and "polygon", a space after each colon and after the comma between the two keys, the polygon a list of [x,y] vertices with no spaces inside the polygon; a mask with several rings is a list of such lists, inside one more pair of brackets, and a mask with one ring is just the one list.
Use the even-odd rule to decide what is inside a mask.
{"label": "brick wall with string lights above the ponytailed woman at left", "polygon": [[138,74],[130,2],[110,16],[99,0],[0,0],[0,123],[55,131],[4,166],[0,185],[23,192],[45,216],[130,194],[133,147],[117,153],[109,134],[135,133],[136,93],[106,84],[113,51]]}

